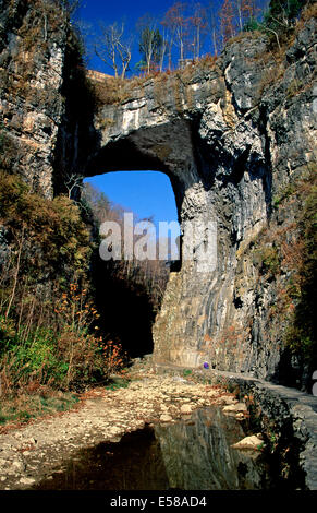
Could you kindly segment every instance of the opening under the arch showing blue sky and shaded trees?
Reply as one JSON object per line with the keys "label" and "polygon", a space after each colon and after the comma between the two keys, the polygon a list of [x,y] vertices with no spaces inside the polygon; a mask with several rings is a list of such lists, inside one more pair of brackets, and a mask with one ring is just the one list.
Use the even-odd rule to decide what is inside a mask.
{"label": "opening under the arch showing blue sky and shaded trees", "polygon": [[[84,198],[90,203],[98,227],[108,220],[114,222],[121,236],[121,259],[109,254],[113,250],[108,244],[108,240],[112,243],[112,229],[106,237],[107,258],[100,250],[105,238],[94,258],[93,279],[100,329],[107,337],[120,342],[130,357],[150,354],[154,349],[151,329],[170,271],[181,267],[179,212],[171,181],[160,171],[110,171],[86,178]],[[127,255],[124,243],[126,230],[131,229],[126,223],[131,219],[133,254]],[[143,225],[145,220],[155,230],[155,239],[148,237],[147,243],[143,243],[149,235]],[[169,227],[173,229],[166,231]],[[155,252],[148,250],[149,246]]]}

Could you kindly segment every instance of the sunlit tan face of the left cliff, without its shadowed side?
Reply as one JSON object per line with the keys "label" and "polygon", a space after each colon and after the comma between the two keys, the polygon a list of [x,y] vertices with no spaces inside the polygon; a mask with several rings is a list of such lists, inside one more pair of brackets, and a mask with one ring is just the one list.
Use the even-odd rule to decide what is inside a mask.
{"label": "sunlit tan face of the left cliff, without its shadowed side", "polygon": [[1,164],[46,195],[52,195],[66,47],[65,21],[60,16],[58,23],[50,8],[38,1],[0,2]]}

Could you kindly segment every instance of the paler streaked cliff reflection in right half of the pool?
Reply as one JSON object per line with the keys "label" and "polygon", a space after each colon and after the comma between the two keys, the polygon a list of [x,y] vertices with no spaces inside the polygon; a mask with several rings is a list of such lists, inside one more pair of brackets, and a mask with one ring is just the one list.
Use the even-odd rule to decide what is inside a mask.
{"label": "paler streaked cliff reflection in right half of the pool", "polygon": [[257,451],[231,444],[245,437],[235,418],[219,408],[197,410],[191,421],[157,426],[155,434],[170,488],[181,490],[265,489],[268,468]]}

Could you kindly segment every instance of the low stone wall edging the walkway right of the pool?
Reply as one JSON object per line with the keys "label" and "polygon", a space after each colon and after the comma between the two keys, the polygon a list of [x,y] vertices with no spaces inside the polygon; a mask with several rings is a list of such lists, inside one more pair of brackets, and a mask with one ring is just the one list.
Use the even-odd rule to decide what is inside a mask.
{"label": "low stone wall edging the walkway right of the pool", "polygon": [[[175,379],[175,377],[183,374],[183,369],[176,366],[157,365],[156,372],[162,375],[173,375]],[[235,374],[234,372],[193,369],[191,375],[197,382],[207,382],[214,385],[221,383],[221,385],[234,391],[241,401],[246,402],[251,414],[248,428],[253,433],[257,431],[263,433],[265,445],[270,453],[269,488],[282,486],[285,487],[284,489],[317,489],[317,397],[252,377]],[[222,450],[225,448],[223,434],[228,429],[223,426],[223,420],[221,423],[219,431],[217,430],[217,422],[214,423],[212,431],[218,431],[217,433],[212,432],[215,437],[210,437],[210,427],[206,430],[206,437],[204,433],[205,428],[200,427],[200,430],[197,430],[197,438],[202,445],[204,445],[205,440],[210,439],[212,446],[212,440],[216,439],[220,441],[217,448],[218,451],[219,445]],[[179,428],[175,426],[175,429]],[[194,425],[192,429],[195,431],[196,426]],[[221,436],[220,432],[222,432]],[[171,446],[173,446],[174,441],[171,442]],[[186,437],[184,437],[183,442],[183,449],[180,451],[181,455],[186,451]],[[173,452],[171,450],[170,454]],[[204,454],[204,450],[200,452],[202,454]],[[210,456],[210,451],[208,451],[207,456]],[[228,456],[229,454],[227,455],[227,462],[230,468]],[[174,466],[178,468],[176,460],[174,460]],[[217,458],[214,458],[214,466],[217,475]],[[248,468],[248,472],[252,475],[252,467]],[[253,482],[256,482],[254,478]],[[265,486],[266,484],[261,482],[260,488],[264,489]]]}

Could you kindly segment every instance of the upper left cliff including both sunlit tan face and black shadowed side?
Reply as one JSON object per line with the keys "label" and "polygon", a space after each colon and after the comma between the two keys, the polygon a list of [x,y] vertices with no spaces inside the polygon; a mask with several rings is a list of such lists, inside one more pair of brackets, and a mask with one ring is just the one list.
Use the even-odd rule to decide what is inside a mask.
{"label": "upper left cliff including both sunlit tan face and black shadowed side", "polygon": [[0,0],[1,167],[48,198],[72,189],[88,153],[80,45],[59,2]]}

